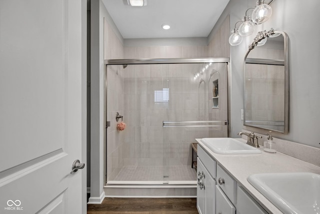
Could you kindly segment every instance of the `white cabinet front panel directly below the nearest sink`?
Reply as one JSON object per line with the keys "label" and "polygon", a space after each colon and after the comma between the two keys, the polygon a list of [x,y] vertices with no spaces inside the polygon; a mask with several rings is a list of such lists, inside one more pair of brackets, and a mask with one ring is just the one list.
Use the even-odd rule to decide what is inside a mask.
{"label": "white cabinet front panel directly below the nearest sink", "polygon": [[267,212],[240,186],[236,189],[237,214],[266,214]]}

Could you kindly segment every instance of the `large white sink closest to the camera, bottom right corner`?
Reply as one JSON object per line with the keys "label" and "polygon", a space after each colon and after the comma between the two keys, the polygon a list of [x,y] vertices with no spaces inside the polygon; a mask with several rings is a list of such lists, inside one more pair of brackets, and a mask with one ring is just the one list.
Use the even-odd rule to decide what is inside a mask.
{"label": "large white sink closest to the camera, bottom right corner", "polygon": [[320,174],[261,173],[247,180],[283,213],[320,213]]}

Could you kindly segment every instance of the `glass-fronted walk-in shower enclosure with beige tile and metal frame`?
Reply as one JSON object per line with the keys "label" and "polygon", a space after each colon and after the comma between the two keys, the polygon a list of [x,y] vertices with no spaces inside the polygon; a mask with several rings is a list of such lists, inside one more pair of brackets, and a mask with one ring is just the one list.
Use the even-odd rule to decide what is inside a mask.
{"label": "glass-fronted walk-in shower enclosure with beige tile and metal frame", "polygon": [[196,184],[191,143],[228,136],[228,62],[105,62],[106,185]]}

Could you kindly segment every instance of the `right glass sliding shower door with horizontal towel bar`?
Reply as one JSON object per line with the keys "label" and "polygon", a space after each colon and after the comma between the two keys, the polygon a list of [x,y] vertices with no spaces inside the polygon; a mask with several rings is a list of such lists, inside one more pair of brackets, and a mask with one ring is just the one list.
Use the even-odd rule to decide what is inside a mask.
{"label": "right glass sliding shower door with horizontal towel bar", "polygon": [[227,71],[227,63],[168,65],[168,120],[162,124],[164,183],[195,183],[191,143],[228,136]]}

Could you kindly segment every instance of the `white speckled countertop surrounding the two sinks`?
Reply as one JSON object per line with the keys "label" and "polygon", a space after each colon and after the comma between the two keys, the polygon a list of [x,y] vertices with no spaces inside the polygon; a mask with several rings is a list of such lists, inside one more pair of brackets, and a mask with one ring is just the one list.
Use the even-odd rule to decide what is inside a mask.
{"label": "white speckled countertop surrounding the two sinks", "polygon": [[[243,143],[246,140],[240,139]],[[195,139],[217,164],[227,171],[264,209],[270,213],[282,213],[266,197],[256,190],[248,181],[247,177],[256,173],[270,172],[312,172],[320,174],[320,167],[276,152],[268,153],[261,150],[261,154],[217,154],[205,146],[201,139]]]}

